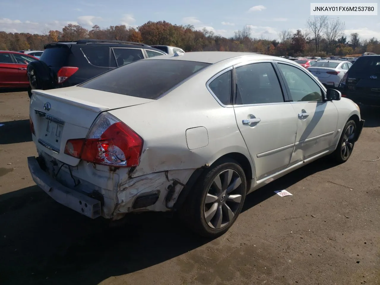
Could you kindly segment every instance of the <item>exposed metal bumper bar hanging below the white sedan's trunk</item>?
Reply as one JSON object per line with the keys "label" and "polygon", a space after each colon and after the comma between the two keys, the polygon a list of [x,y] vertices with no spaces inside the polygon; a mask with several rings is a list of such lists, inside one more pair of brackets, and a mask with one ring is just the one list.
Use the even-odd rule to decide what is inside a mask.
{"label": "exposed metal bumper bar hanging below the white sedan's trunk", "polygon": [[101,215],[100,201],[67,188],[45,173],[35,157],[28,157],[28,168],[33,181],[58,203],[89,218]]}

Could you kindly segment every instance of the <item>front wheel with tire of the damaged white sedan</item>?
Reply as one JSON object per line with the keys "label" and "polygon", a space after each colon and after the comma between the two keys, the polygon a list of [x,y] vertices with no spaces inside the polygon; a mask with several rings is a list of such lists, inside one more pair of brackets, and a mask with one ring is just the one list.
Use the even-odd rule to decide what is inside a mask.
{"label": "front wheel with tire of the damaged white sedan", "polygon": [[350,158],[355,145],[356,130],[357,128],[355,121],[348,120],[343,128],[343,132],[340,136],[338,146],[332,153],[332,158],[337,163],[344,163],[348,160],[348,158]]}

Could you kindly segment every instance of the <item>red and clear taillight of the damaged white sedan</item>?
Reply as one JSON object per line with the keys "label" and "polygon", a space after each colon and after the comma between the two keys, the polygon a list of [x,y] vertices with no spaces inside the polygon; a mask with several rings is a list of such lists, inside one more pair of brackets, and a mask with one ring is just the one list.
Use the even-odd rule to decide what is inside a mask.
{"label": "red and clear taillight of the damaged white sedan", "polygon": [[69,139],[65,154],[96,164],[132,167],[139,164],[144,141],[109,113],[99,116],[86,139]]}

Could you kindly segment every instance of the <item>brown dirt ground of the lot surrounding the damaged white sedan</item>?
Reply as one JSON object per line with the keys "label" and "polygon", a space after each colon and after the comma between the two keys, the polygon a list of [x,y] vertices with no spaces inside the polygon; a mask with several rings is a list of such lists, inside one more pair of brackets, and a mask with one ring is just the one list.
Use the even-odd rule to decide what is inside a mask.
{"label": "brown dirt ground of the lot surrounding the damaged white sedan", "polygon": [[[0,93],[0,284],[380,284],[380,109],[350,160],[316,161],[247,196],[207,241],[175,219],[110,228],[52,200],[30,177],[26,92]],[[274,190],[293,196],[280,197]]]}

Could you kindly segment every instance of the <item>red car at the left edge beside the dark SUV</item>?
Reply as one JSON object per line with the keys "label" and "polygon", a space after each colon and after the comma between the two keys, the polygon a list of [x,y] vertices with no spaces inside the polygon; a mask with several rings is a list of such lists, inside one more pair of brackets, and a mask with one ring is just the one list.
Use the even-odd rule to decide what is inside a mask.
{"label": "red car at the left edge beside the dark SUV", "polygon": [[0,51],[0,89],[30,88],[27,66],[38,60],[31,55],[15,51]]}

